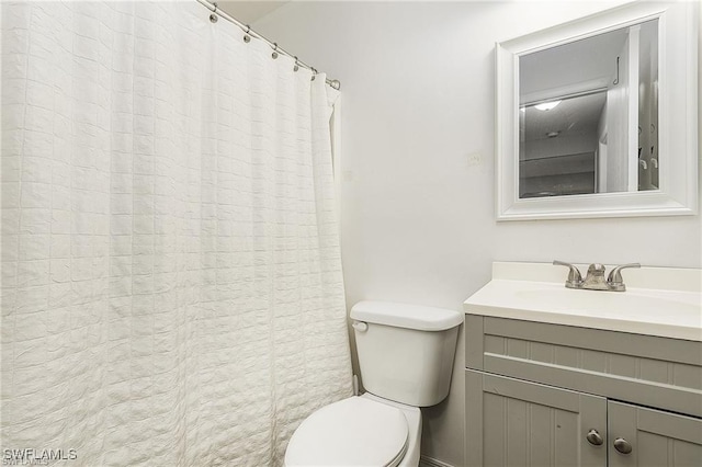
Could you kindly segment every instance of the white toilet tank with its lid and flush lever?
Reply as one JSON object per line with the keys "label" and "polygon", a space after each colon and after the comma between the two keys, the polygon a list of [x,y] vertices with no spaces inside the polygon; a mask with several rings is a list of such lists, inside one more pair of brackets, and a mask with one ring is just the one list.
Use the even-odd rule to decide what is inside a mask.
{"label": "white toilet tank with its lid and flush lever", "polygon": [[462,314],[360,301],[351,308],[351,319],[369,392],[416,407],[437,405],[449,395]]}

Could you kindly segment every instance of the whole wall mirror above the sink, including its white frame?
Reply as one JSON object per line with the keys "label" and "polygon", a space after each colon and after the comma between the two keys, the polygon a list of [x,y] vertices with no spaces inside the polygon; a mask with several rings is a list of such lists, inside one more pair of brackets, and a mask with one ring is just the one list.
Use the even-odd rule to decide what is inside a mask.
{"label": "whole wall mirror above the sink, including its white frame", "polygon": [[638,2],[497,45],[498,220],[690,215],[697,2]]}

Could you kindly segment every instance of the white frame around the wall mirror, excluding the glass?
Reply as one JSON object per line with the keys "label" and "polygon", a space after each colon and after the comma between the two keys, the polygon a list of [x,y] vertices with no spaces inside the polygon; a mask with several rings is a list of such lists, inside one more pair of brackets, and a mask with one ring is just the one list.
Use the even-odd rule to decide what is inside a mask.
{"label": "white frame around the wall mirror, excluding the glass", "polygon": [[[496,46],[497,220],[698,212],[698,2],[630,3]],[[659,190],[519,198],[519,57],[658,19]]]}

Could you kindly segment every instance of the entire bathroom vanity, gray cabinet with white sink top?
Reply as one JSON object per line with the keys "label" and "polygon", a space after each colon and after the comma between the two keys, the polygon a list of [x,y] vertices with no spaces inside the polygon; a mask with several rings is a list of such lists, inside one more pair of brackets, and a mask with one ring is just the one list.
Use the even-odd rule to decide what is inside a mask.
{"label": "entire bathroom vanity, gray cabinet with white sink top", "polygon": [[495,263],[464,304],[466,466],[701,466],[701,274]]}

